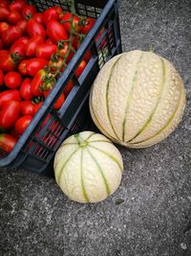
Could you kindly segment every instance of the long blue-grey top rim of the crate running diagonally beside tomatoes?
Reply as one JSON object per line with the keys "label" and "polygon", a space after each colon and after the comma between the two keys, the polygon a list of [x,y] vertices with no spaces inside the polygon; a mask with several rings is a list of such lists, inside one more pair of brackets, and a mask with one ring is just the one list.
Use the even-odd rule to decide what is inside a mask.
{"label": "long blue-grey top rim of the crate running diagonally beside tomatoes", "polygon": [[81,54],[88,49],[88,47],[89,47],[92,39],[94,38],[94,36],[98,34],[98,31],[99,31],[99,29],[100,29],[100,27],[102,25],[102,20],[108,14],[107,10],[111,10],[111,8],[113,7],[113,5],[115,3],[117,3],[117,0],[109,0],[105,4],[102,12],[100,12],[98,17],[96,18],[96,23],[95,23],[94,27],[86,35],[86,37],[82,41],[81,45],[79,46],[79,48],[75,52],[74,57],[69,62],[69,64],[67,65],[67,67],[64,70],[64,72],[62,73],[62,75],[56,81],[56,86],[53,87],[53,90],[49,94],[49,97],[47,97],[47,99],[44,101],[43,105],[41,105],[41,107],[39,108],[38,112],[34,115],[34,117],[32,118],[32,122],[30,123],[28,128],[26,128],[26,130],[24,131],[22,136],[18,139],[18,141],[15,144],[13,150],[7,156],[5,156],[2,159],[0,159],[0,167],[6,167],[9,164],[11,164],[11,162],[18,155],[19,151],[21,151],[21,149],[23,148],[23,146],[25,145],[25,143],[29,139],[30,135],[32,134],[32,131],[34,130],[36,125],[40,122],[40,119],[42,119],[42,117],[48,111],[48,107],[50,105],[53,105],[53,100],[56,97],[56,94],[61,89],[62,84],[64,82],[67,82],[67,81],[70,80],[69,74],[71,73],[71,70],[73,70],[74,66],[76,65],[76,63],[78,63],[80,61]]}

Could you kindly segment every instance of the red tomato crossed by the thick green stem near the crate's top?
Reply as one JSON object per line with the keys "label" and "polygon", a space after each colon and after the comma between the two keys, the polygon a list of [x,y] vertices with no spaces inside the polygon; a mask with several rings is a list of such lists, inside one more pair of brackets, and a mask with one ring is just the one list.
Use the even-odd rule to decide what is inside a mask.
{"label": "red tomato crossed by the thick green stem near the crate's top", "polygon": [[[61,21],[61,23],[63,22],[63,26],[68,33],[71,33],[71,23],[70,23],[70,21],[69,22],[66,22],[66,21],[70,20],[71,16],[72,16],[71,12],[62,12],[59,15],[60,21]],[[76,15],[74,15],[73,26],[74,26],[75,33],[80,33],[79,21],[80,21],[80,18],[78,18]]]}

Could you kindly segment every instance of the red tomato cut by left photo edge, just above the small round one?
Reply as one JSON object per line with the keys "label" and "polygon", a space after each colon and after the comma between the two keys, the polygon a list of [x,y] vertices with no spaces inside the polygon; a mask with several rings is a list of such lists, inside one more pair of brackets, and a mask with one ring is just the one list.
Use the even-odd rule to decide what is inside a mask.
{"label": "red tomato cut by left photo edge, just above the small round one", "polygon": [[14,58],[14,56],[11,56],[8,51],[0,51],[0,56],[0,69],[3,72],[13,71],[16,68],[17,59]]}

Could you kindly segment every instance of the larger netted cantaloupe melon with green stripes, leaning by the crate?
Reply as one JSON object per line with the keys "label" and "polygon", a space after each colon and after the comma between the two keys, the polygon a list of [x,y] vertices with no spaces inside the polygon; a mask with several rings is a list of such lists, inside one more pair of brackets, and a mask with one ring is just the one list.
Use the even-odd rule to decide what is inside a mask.
{"label": "larger netted cantaloupe melon with green stripes, leaning by the crate", "polygon": [[130,148],[152,146],[180,123],[183,82],[165,58],[139,50],[109,60],[90,95],[92,118],[107,137]]}

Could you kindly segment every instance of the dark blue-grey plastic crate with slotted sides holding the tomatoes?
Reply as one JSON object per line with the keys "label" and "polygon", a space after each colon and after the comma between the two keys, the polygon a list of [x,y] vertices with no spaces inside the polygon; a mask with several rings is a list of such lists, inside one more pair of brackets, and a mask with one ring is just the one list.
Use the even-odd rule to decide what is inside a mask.
{"label": "dark blue-grey plastic crate with slotted sides holding the tomatoes", "polygon": [[[63,3],[64,1],[29,2],[34,4],[39,12],[54,5],[69,10],[69,5]],[[118,3],[117,0],[77,0],[75,10],[80,15],[95,17],[96,24],[86,35],[14,149],[8,155],[0,152],[1,167],[26,169],[50,175],[50,169],[53,169],[53,155],[62,141],[75,132],[89,128],[92,122],[88,97],[93,81],[103,64],[121,53]],[[97,35],[100,35],[98,39]],[[74,71],[88,50],[91,50],[92,58],[79,79],[76,79]],[[71,79],[74,81],[74,88],[61,108],[55,111],[53,104]]]}

